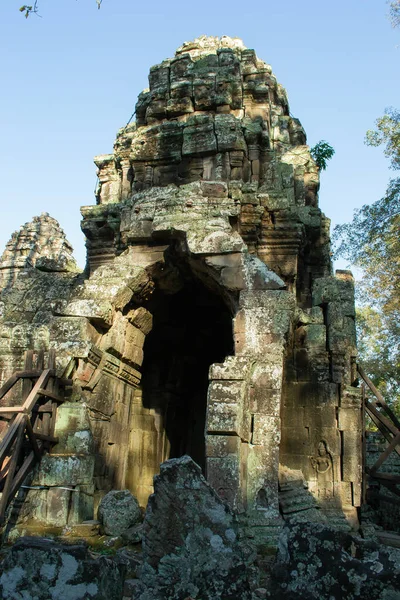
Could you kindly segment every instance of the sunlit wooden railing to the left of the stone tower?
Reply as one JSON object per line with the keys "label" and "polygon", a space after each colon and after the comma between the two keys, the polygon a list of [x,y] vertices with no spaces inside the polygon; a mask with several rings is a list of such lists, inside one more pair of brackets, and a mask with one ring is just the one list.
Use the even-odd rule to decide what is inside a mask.
{"label": "sunlit wooden railing to the left of the stone tower", "polygon": [[[0,434],[0,525],[28,473],[43,453],[57,443],[54,437],[57,406],[64,402],[65,386],[71,383],[57,377],[53,350],[48,353],[47,368],[42,351],[35,358],[34,364],[33,351],[26,352],[24,370],[14,373],[0,389],[0,420],[8,421]],[[5,397],[11,390],[17,392],[20,405],[6,404]]]}

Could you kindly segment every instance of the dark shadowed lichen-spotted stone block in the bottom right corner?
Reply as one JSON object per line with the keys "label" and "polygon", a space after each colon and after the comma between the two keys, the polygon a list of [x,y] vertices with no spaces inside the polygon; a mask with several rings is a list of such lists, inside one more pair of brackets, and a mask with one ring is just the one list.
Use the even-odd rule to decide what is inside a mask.
{"label": "dark shadowed lichen-spotted stone block in the bottom right corner", "polygon": [[318,523],[287,524],[270,598],[398,600],[400,551]]}

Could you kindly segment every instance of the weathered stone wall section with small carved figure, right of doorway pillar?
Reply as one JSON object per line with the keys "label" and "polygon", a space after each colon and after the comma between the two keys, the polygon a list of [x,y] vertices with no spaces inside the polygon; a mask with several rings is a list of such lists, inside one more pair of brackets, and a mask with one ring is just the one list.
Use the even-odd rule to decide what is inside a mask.
{"label": "weathered stone wall section with small carved figure, right of doorway pillar", "polygon": [[326,510],[356,518],[361,503],[361,393],[354,387],[354,282],[347,272],[316,279],[297,313],[287,354],[281,463],[302,471]]}

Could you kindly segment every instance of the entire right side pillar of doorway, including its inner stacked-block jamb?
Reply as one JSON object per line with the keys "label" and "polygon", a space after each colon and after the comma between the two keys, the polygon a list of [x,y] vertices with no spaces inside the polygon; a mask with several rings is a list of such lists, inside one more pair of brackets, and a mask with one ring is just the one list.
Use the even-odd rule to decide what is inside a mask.
{"label": "entire right side pillar of doorway, including its inner stacked-block jamb", "polygon": [[280,404],[294,307],[286,291],[241,292],[236,356],[210,370],[207,478],[233,508],[246,510],[246,524],[261,544],[280,523]]}

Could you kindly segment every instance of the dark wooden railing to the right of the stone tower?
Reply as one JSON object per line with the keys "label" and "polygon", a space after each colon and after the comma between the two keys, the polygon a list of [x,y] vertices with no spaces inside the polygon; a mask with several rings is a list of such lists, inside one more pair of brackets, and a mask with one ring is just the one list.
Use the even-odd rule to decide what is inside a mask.
{"label": "dark wooden railing to the right of the stone tower", "polygon": [[[383,437],[388,442],[388,446],[381,453],[379,458],[376,460],[372,467],[368,467],[365,464],[365,452],[364,452],[364,472],[371,478],[378,481],[381,485],[386,487],[394,496],[398,496],[396,499],[394,496],[387,496],[379,494],[381,499],[390,501],[394,504],[400,504],[400,475],[393,473],[385,473],[378,471],[389,456],[396,452],[400,456],[400,421],[394,414],[393,410],[385,402],[380,391],[372,383],[368,375],[365,373],[361,365],[357,365],[358,373],[363,380],[361,390],[363,399],[363,409],[370,417],[371,421],[379,429]],[[371,400],[367,397],[366,388],[372,392],[374,399]],[[366,489],[366,477],[364,476],[364,497]]]}

